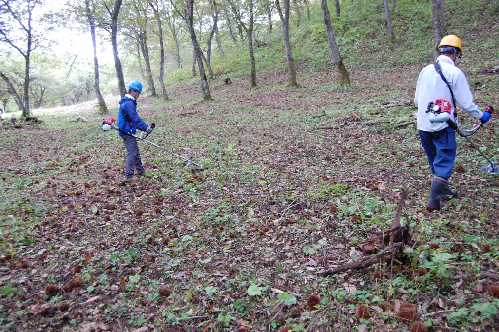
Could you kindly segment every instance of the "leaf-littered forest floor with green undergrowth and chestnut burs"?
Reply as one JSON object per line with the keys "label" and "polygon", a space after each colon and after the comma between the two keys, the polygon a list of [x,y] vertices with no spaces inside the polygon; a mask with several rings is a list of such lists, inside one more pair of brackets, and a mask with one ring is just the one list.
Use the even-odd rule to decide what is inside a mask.
{"label": "leaf-littered forest floor with green undergrowth and chestnut burs", "polygon": [[[380,10],[366,1],[348,14],[358,2],[342,2],[345,31]],[[396,13],[421,15],[427,4],[414,3],[398,1]],[[450,2],[449,24],[464,22],[456,12],[488,12],[484,3]],[[312,42],[312,23],[295,38]],[[411,24],[415,38],[423,24]],[[497,26],[488,28],[463,23],[460,33],[492,45]],[[352,50],[354,32],[365,31],[350,31]],[[142,118],[158,124],[151,140],[206,169],[193,173],[139,143],[147,176],[138,185],[122,181],[122,140],[101,131],[95,105],[36,114],[43,123],[20,129],[3,122],[0,330],[407,331],[409,318],[431,331],[497,331],[497,178],[481,173],[485,160],[458,139],[451,181],[459,197],[426,211],[431,174],[417,130],[397,126],[414,120],[415,108],[384,107],[412,97],[430,46],[414,43],[414,62],[394,46],[380,46],[386,61],[372,48],[365,66],[350,52],[358,62],[348,91],[323,70],[326,55],[297,52],[309,64],[297,88],[267,70],[250,89],[233,69],[234,84],[214,82],[210,103],[199,102],[197,82],[171,88],[169,102],[143,96]],[[477,102],[498,104],[497,74],[479,68],[494,57],[467,49],[460,63]],[[402,65],[404,75],[393,69]],[[88,123],[67,120],[80,112]],[[494,161],[496,124],[472,137]],[[360,246],[391,227],[402,190],[407,256],[320,277],[369,256]]]}

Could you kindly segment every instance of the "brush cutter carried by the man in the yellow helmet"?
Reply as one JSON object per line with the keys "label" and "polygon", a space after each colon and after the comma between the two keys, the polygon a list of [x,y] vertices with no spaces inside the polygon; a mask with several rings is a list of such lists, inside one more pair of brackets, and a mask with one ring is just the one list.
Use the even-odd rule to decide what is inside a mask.
{"label": "brush cutter carried by the man in the yellow helmet", "polygon": [[[494,113],[494,107],[487,106],[485,109],[486,112]],[[430,122],[447,122],[451,128],[456,130],[456,132],[463,136],[470,144],[473,146],[482,157],[487,159],[489,165],[482,166],[480,169],[482,172],[490,173],[490,174],[499,174],[499,167],[495,166],[492,160],[468,137],[476,133],[482,125],[485,123],[484,121],[480,121],[478,125],[476,125],[472,129],[460,129],[458,125],[452,121],[451,119],[451,103],[445,99],[437,99],[435,102],[430,102],[428,104],[428,110],[426,111],[428,115],[428,119]]]}

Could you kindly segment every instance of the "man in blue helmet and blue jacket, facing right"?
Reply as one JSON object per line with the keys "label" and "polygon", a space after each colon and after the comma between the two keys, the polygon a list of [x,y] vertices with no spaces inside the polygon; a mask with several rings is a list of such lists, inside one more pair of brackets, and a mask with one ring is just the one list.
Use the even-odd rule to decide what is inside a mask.
{"label": "man in blue helmet and blue jacket, facing right", "polygon": [[[137,129],[150,134],[153,131],[151,126],[148,126],[137,113],[137,99],[142,94],[142,83],[139,81],[131,81],[128,84],[128,93],[125,94],[120,101],[120,109],[118,111],[118,126],[131,133],[135,134]],[[139,182],[140,176],[145,173],[140,158],[139,145],[137,139],[132,135],[125,134],[119,131],[126,147],[126,167],[125,167],[125,182]],[[139,177],[134,175],[134,168],[137,170]]]}

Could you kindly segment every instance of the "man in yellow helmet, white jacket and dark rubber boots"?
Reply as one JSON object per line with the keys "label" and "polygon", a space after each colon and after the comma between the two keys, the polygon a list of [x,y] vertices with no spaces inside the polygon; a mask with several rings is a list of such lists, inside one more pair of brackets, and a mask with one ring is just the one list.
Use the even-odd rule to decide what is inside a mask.
{"label": "man in yellow helmet, white jacket and dark rubber boots", "polygon": [[[456,159],[456,135],[452,126],[447,121],[430,122],[427,114],[429,103],[437,99],[445,99],[452,105],[448,121],[457,124],[456,106],[459,105],[471,116],[489,121],[490,112],[482,112],[473,102],[473,95],[468,85],[465,74],[456,67],[456,58],[463,54],[463,47],[459,37],[455,35],[445,36],[437,47],[437,67],[430,64],[421,70],[414,103],[418,107],[418,130],[421,145],[428,157],[428,162],[434,177],[430,188],[428,210],[438,210],[442,207],[440,201],[448,200],[457,195],[457,191],[449,187],[447,180],[452,175],[454,161]],[[444,81],[436,68],[442,68],[442,74],[447,79]],[[451,92],[452,90],[452,92]],[[451,123],[452,124],[452,123]]]}

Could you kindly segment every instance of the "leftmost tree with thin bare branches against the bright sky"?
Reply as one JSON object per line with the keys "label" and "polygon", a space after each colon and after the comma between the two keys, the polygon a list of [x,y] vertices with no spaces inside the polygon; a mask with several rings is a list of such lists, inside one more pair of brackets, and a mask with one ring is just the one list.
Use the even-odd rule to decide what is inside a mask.
{"label": "leftmost tree with thin bare branches against the bright sky", "polygon": [[[0,76],[7,84],[22,116],[31,115],[29,107],[29,83],[31,52],[38,46],[39,36],[32,28],[33,10],[41,5],[40,0],[0,0],[0,42],[18,51],[24,57],[24,82],[21,91],[14,88],[11,79],[3,69]],[[24,44],[25,46],[21,46]]]}

